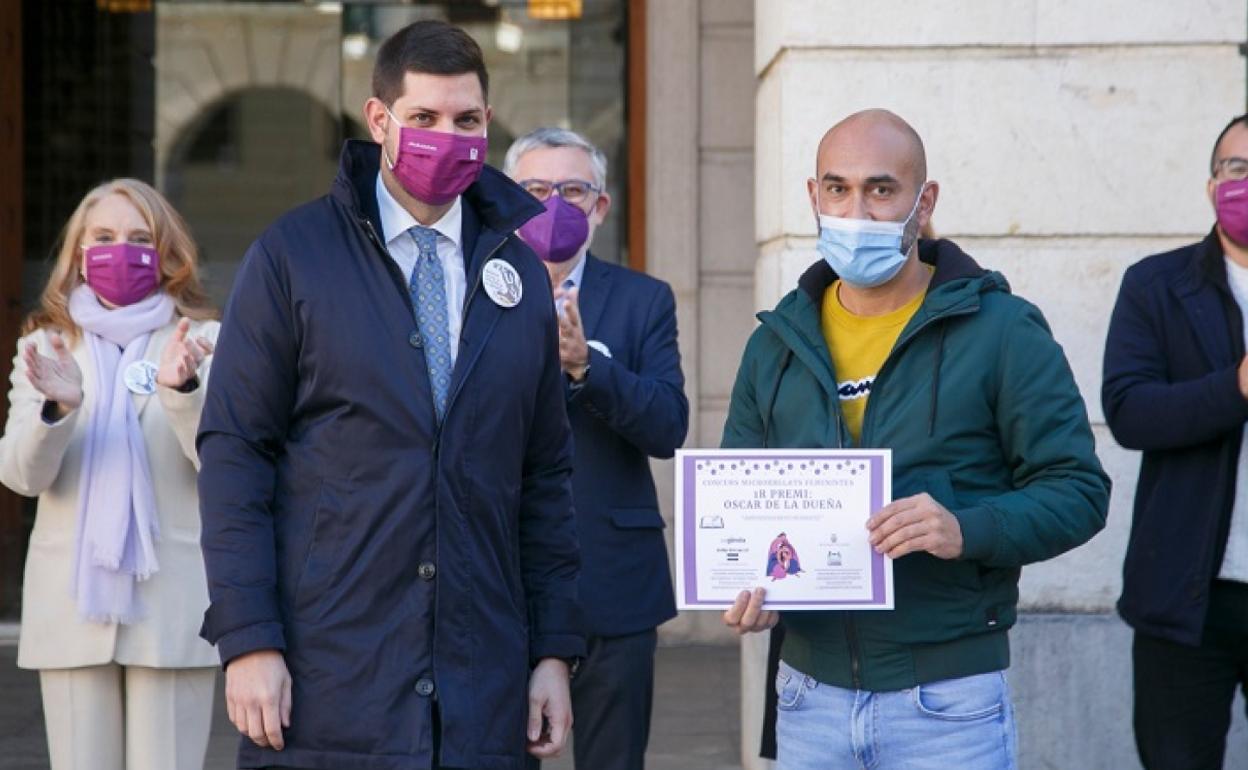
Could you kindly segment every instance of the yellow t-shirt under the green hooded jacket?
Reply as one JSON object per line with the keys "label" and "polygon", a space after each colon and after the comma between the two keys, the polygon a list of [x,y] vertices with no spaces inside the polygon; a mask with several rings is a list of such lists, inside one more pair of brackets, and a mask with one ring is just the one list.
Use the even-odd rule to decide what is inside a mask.
{"label": "yellow t-shirt under the green hooded jacket", "polygon": [[884,316],[855,316],[841,305],[840,283],[832,282],[824,292],[824,339],[836,369],[845,426],[856,443],[862,434],[862,417],[875,376],[927,292],[919,292],[914,300]]}

